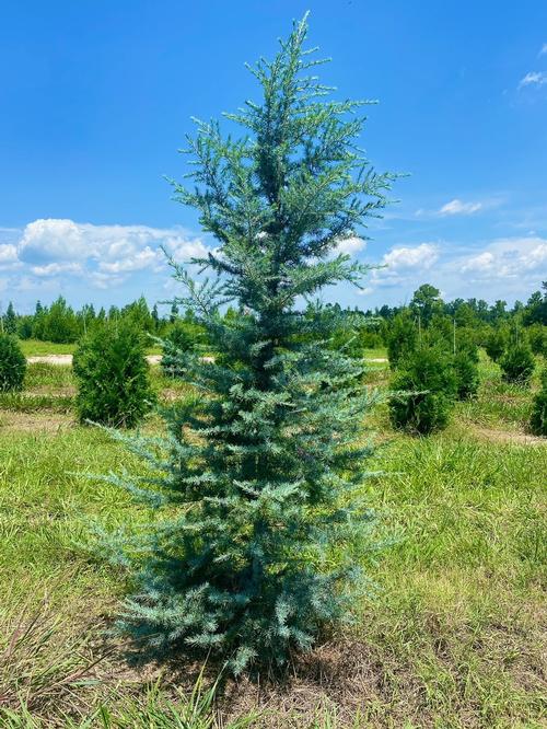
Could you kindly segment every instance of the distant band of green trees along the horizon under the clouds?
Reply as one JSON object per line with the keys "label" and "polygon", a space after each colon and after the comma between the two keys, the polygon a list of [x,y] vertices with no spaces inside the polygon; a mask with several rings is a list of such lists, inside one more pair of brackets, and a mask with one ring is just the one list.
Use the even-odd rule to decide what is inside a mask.
{"label": "distant band of green trees along the horizon under the clouds", "polygon": [[[314,304],[310,304],[311,316],[313,309]],[[430,284],[423,284],[406,305],[384,304],[363,311],[358,308],[344,310],[335,303],[326,304],[325,309],[330,310],[334,315],[352,319],[357,331],[353,347],[358,348],[387,346],[393,333],[401,329],[401,321],[410,319],[417,331],[420,327],[428,328],[432,321],[439,324],[441,320],[452,322],[457,329],[474,329],[476,344],[490,347],[492,351],[509,340],[512,331],[521,328],[523,336],[528,337],[532,349],[539,354],[545,346],[543,327],[547,326],[547,281],[529,296],[526,303],[516,301],[511,308],[502,300],[493,304],[476,298],[467,300],[458,298],[445,302],[439,289]],[[230,317],[243,313],[243,310],[237,312],[229,308],[224,315]],[[181,321],[189,325],[195,324],[195,317],[189,310],[179,311],[177,303],[172,303],[167,313],[160,314],[158,303],[150,306],[143,296],[125,306],[110,306],[107,310],[101,308],[98,311],[92,303],[75,310],[63,297],[59,297],[49,306],[37,301],[33,314],[18,313],[10,301],[5,313],[0,317],[0,323],[4,333],[15,334],[21,339],[71,344],[78,342],[96,324],[120,320],[129,320],[141,332],[158,336],[164,336]],[[187,328],[190,335],[194,329],[196,338],[202,340],[203,333],[199,327]],[[356,333],[352,336],[356,336]],[[340,344],[340,335],[335,334],[335,340]]]}

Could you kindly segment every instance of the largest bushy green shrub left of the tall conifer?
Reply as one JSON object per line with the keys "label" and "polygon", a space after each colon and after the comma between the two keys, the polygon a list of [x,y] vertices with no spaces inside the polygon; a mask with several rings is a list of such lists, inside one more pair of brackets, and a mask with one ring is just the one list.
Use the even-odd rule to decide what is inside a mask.
{"label": "largest bushy green shrub left of the tall conifer", "polygon": [[130,322],[94,327],[74,352],[73,369],[81,421],[132,428],[150,409],[144,343]]}

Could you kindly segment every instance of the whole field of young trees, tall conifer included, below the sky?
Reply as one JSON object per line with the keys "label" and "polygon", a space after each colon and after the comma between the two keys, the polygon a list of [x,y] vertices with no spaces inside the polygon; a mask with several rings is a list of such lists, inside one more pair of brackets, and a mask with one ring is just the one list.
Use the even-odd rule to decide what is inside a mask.
{"label": "whole field of young trees, tall conifer included, below the sky", "polygon": [[396,176],[305,36],[188,140],[167,313],[2,315],[2,727],[545,726],[547,284],[317,300]]}

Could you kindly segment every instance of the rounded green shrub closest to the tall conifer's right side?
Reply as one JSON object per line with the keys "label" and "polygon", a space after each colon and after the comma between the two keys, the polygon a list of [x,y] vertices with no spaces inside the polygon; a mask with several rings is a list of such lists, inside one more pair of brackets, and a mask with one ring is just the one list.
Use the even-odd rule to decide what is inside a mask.
{"label": "rounded green shrub closest to the tall conifer's right side", "polygon": [[395,372],[391,390],[393,426],[427,435],[449,421],[457,393],[456,373],[442,348],[420,346]]}

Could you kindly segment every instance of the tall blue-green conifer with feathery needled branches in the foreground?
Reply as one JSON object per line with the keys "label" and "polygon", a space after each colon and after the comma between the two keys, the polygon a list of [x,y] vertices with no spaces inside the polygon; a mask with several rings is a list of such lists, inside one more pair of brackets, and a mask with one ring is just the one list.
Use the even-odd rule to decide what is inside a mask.
{"label": "tall blue-green conifer with feathery needled branches in the foreground", "polygon": [[[166,413],[163,444],[133,443],[156,477],[127,484],[163,519],[133,545],[147,556],[121,627],[160,649],[219,651],[235,673],[282,663],[347,616],[365,585],[356,554],[373,544],[357,495],[369,449],[354,444],[373,396],[356,359],[327,346],[339,323],[300,302],[359,282],[365,268],[337,246],[380,213],[393,175],[356,146],[362,103],[328,100],[310,76],[322,61],[305,36],[304,19],[252,69],[263,100],[229,115],[245,136],[198,123],[188,140],[195,186],[176,194],[218,247],[194,261],[211,273],[199,285],[172,262],[176,303],[217,354],[181,351],[197,394]],[[220,315],[228,301],[241,315]]]}

